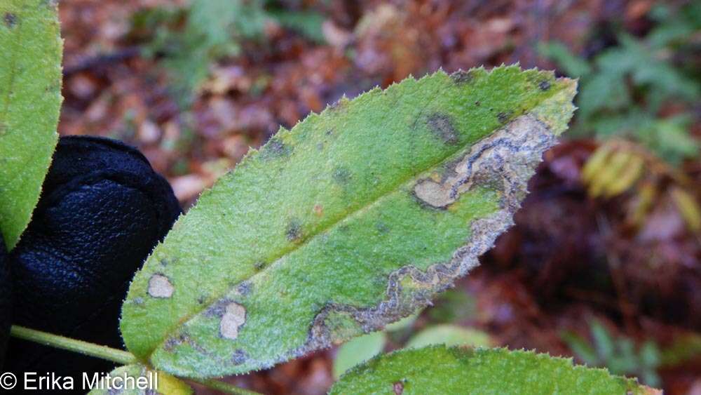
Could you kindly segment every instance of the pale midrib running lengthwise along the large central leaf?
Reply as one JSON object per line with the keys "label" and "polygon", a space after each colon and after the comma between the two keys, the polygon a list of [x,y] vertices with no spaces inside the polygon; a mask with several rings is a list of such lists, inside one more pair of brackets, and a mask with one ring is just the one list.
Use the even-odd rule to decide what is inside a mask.
{"label": "pale midrib running lengthwise along the large central leaf", "polygon": [[[493,71],[494,71],[494,69],[489,70],[489,72],[488,72],[487,75],[491,74],[491,72],[493,72]],[[429,78],[429,77],[430,77],[430,75],[429,75],[429,76],[425,76],[425,77],[423,77],[423,78]],[[419,80],[416,81],[416,82],[418,83],[418,82],[420,82],[420,81],[421,81],[421,79],[419,79]],[[439,98],[438,93],[440,93],[440,91],[442,91],[442,88],[443,88],[443,87],[440,86],[440,87],[437,89],[435,95],[433,95],[433,99],[428,100],[428,101],[426,102],[426,105],[424,105],[423,108],[421,109],[421,111],[418,112],[418,114],[417,114],[417,116],[416,116],[416,119],[414,119],[414,123],[416,123],[416,121],[421,117],[421,114],[423,114],[423,112],[426,110],[426,108],[428,108],[428,107],[430,106],[431,103],[433,103],[435,100],[437,100],[437,99]],[[513,121],[514,119],[518,118],[519,116],[522,116],[522,115],[524,115],[524,114],[528,114],[528,113],[531,112],[534,108],[536,108],[536,107],[542,105],[545,101],[549,100],[550,98],[552,98],[554,95],[556,95],[557,93],[559,93],[559,91],[562,91],[563,89],[564,89],[564,86],[558,86],[557,89],[551,89],[550,92],[549,92],[550,95],[547,95],[546,97],[544,97],[544,98],[543,98],[542,100],[540,100],[539,102],[536,102],[535,105],[533,105],[533,106],[531,106],[530,108],[524,110],[524,112],[522,112],[521,114],[519,114],[519,115],[517,115],[517,116],[513,116],[513,117],[512,117],[511,119],[509,119],[509,121],[508,121],[507,123],[505,123],[504,125],[501,125],[501,126],[498,126],[497,128],[492,129],[490,133],[488,133],[488,134],[486,134],[486,135],[483,135],[482,138],[479,138],[478,140],[475,140],[475,141],[473,141],[473,142],[465,142],[465,144],[463,144],[463,145],[456,145],[456,148],[455,148],[455,149],[453,149],[453,150],[451,150],[451,151],[449,151],[449,152],[447,151],[447,154],[445,154],[445,155],[442,156],[440,159],[438,159],[437,161],[435,161],[435,163],[431,163],[430,165],[427,165],[426,168],[423,168],[423,169],[421,169],[421,170],[416,170],[415,173],[411,173],[411,174],[410,174],[409,176],[407,176],[406,178],[402,178],[400,181],[395,182],[395,184],[393,184],[391,187],[388,187],[388,189],[386,190],[386,192],[383,192],[382,194],[379,194],[378,196],[376,196],[376,198],[372,199],[371,201],[368,201],[366,204],[364,204],[364,205],[362,205],[362,206],[359,206],[359,207],[356,208],[355,210],[349,210],[347,213],[345,213],[345,215],[339,215],[339,217],[338,217],[335,221],[330,221],[330,222],[328,222],[327,225],[325,225],[325,226],[323,226],[323,227],[320,227],[320,229],[318,229],[317,232],[315,232],[315,233],[313,233],[313,234],[308,234],[308,236],[306,236],[306,237],[305,237],[302,241],[300,241],[299,243],[295,243],[294,245],[290,246],[290,248],[283,248],[283,249],[281,249],[281,252],[280,252],[278,255],[275,255],[275,257],[273,257],[273,259],[271,260],[271,262],[268,263],[263,269],[260,269],[259,271],[254,272],[254,274],[252,274],[251,276],[247,277],[247,279],[244,279],[244,280],[241,280],[241,281],[246,281],[246,280],[248,280],[248,279],[252,279],[254,276],[259,275],[261,272],[264,272],[264,271],[265,271],[266,269],[268,269],[269,267],[272,267],[273,265],[275,265],[276,262],[279,262],[280,259],[282,259],[282,258],[285,257],[286,255],[292,253],[292,252],[295,251],[295,250],[298,250],[299,248],[302,248],[302,247],[306,246],[311,240],[313,240],[313,239],[315,239],[316,237],[318,237],[318,236],[324,234],[325,232],[327,232],[327,230],[336,227],[336,225],[339,225],[341,222],[347,220],[348,218],[354,217],[355,215],[360,215],[360,213],[365,213],[365,211],[367,211],[369,208],[371,208],[372,206],[374,206],[376,203],[379,203],[380,201],[382,201],[384,198],[386,198],[386,197],[389,196],[390,194],[393,194],[394,192],[396,192],[397,189],[398,189],[399,187],[401,187],[402,185],[405,185],[405,184],[407,184],[408,182],[411,182],[411,180],[415,180],[415,179],[418,177],[418,175],[421,175],[422,173],[425,173],[426,171],[428,171],[428,170],[430,170],[430,169],[432,169],[432,168],[435,168],[436,166],[440,166],[440,164],[445,163],[446,161],[448,161],[449,159],[451,159],[451,157],[454,156],[455,154],[457,154],[458,152],[463,152],[466,148],[472,147],[473,145],[477,144],[479,141],[483,140],[484,138],[488,138],[488,137],[489,137],[490,135],[492,135],[496,130],[499,130],[500,128],[503,128],[503,126],[505,126],[506,124],[510,123],[511,121]],[[380,91],[381,94],[385,94],[385,92],[386,92],[386,91]],[[363,95],[367,95],[367,94],[371,94],[371,93],[374,93],[374,92],[373,92],[373,91],[368,91],[368,92],[363,93],[362,95],[358,96],[358,98],[355,98],[354,100],[358,100],[358,99],[359,99],[360,97],[362,97]],[[323,114],[323,112],[322,112],[321,114],[319,114],[319,116],[322,116],[322,114]],[[300,123],[301,123],[301,122],[304,122],[304,120],[303,120],[303,121],[300,121]],[[287,133],[293,133],[293,132],[294,132],[294,128],[292,128],[292,129],[290,129],[290,130],[287,130]],[[235,170],[234,170],[234,171],[235,171]],[[240,283],[241,281],[239,281],[238,283]],[[238,285],[238,283],[237,283],[237,285]],[[209,308],[214,302],[217,302],[217,300],[222,299],[222,297],[223,297],[224,295],[226,295],[227,293],[229,293],[229,291],[230,291],[231,289],[233,289],[233,288],[234,288],[233,286],[232,286],[232,287],[225,288],[225,290],[222,291],[222,293],[218,293],[215,297],[211,297],[209,300],[207,300],[207,302],[203,303],[203,304],[201,305],[202,307],[200,307],[200,308],[198,308],[198,309],[193,309],[193,312],[191,312],[190,314],[186,314],[186,315],[182,316],[182,318],[179,319],[179,320],[177,321],[177,323],[175,323],[175,325],[173,325],[173,326],[165,333],[165,335],[163,336],[163,339],[161,339],[160,341],[154,343],[154,344],[156,344],[156,345],[155,345],[153,348],[151,348],[151,349],[149,350],[148,359],[149,359],[149,360],[151,359],[151,356],[153,356],[154,352],[155,352],[157,349],[161,349],[161,348],[162,348],[163,344],[165,344],[165,342],[168,341],[168,339],[170,338],[170,336],[172,335],[172,333],[177,332],[177,328],[179,328],[180,326],[182,326],[184,323],[189,322],[194,316],[197,316],[197,315],[200,314],[201,312],[205,311],[205,309]],[[173,330],[173,329],[175,329],[175,330]]]}

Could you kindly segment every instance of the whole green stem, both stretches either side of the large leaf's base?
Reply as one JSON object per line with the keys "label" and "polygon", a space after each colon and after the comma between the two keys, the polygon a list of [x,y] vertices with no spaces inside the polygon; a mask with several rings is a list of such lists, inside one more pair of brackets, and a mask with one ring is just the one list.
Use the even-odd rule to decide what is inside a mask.
{"label": "whole green stem, both stretches either side of the large leaf's base", "polygon": [[[17,337],[18,339],[29,340],[30,342],[44,344],[46,346],[55,347],[57,349],[65,349],[72,352],[78,352],[84,355],[95,356],[96,358],[106,359],[107,361],[116,362],[121,365],[129,365],[130,363],[139,362],[134,356],[134,354],[123,351],[121,349],[113,349],[111,347],[101,346],[95,343],[83,342],[83,340],[76,340],[71,339],[70,337],[54,335],[53,333],[46,333],[42,332],[41,330],[29,329],[25,328],[24,326],[13,325],[10,328],[10,335],[13,337]],[[211,389],[216,389],[217,391],[222,391],[224,392],[224,394],[260,395],[255,391],[234,387],[231,384],[227,384],[226,382],[222,382],[219,380],[190,379],[190,381],[202,384],[205,387],[209,387]]]}

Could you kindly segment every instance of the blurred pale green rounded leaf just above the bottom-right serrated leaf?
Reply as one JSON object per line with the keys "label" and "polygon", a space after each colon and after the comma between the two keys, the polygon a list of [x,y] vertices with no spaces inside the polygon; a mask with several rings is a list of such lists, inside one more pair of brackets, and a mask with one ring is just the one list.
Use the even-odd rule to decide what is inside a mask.
{"label": "blurred pale green rounded leaf just above the bottom-right serrated leaf", "polygon": [[433,344],[445,344],[448,347],[467,345],[471,347],[489,347],[489,334],[472,328],[457,325],[436,325],[417,333],[407,343],[407,348],[418,349]]}

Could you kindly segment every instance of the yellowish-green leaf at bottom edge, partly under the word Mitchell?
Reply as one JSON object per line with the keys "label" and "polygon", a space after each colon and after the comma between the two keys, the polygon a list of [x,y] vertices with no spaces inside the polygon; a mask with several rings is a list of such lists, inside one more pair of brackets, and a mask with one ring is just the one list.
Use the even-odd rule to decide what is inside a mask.
{"label": "yellowish-green leaf at bottom edge, partly under the word Mitchell", "polygon": [[138,363],[120,366],[112,370],[109,375],[95,380],[88,377],[93,389],[88,395],[190,395],[192,387],[163,372],[149,370]]}

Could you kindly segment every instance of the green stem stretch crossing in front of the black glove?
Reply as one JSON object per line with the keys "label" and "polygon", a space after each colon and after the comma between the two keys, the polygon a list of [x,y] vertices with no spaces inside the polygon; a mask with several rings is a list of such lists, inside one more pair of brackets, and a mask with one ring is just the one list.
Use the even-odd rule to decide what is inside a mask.
{"label": "green stem stretch crossing in front of the black glove", "polygon": [[72,352],[79,352],[80,354],[84,355],[95,356],[100,359],[107,359],[107,361],[121,363],[122,365],[137,362],[137,359],[133,354],[130,352],[125,352],[121,349],[113,349],[111,347],[100,346],[99,344],[95,343],[83,342],[83,340],[53,335],[52,333],[29,329],[23,326],[13,325],[12,328],[10,328],[10,335],[13,337],[18,337],[19,339],[29,340],[30,342],[55,347],[57,349],[66,349]]}

